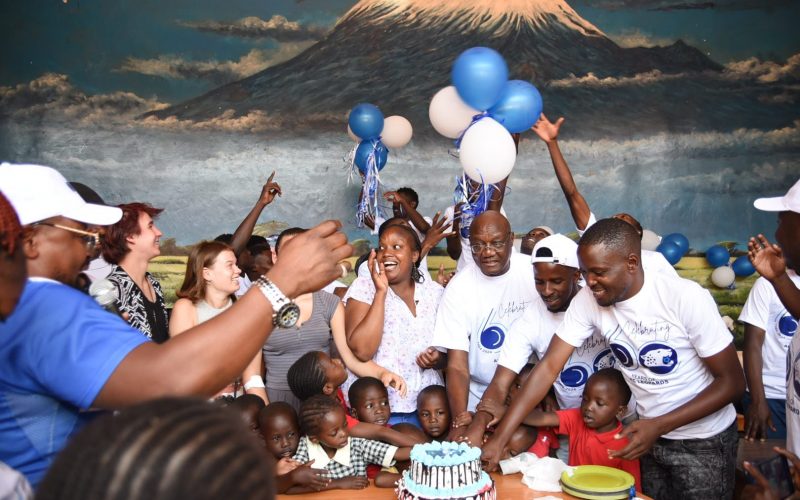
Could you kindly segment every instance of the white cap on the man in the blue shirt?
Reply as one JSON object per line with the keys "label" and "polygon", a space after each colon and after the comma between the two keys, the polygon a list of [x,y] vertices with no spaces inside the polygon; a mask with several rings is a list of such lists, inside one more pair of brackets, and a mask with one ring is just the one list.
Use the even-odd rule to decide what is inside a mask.
{"label": "white cap on the man in the blue shirt", "polygon": [[107,226],[122,218],[117,207],[86,203],[57,170],[41,165],[0,165],[0,191],[17,211],[22,225],[63,216]]}

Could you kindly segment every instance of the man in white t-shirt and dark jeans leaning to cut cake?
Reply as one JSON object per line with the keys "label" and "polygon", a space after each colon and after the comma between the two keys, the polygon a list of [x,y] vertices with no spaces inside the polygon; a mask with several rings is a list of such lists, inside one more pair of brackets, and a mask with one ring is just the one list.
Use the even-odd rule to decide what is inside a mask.
{"label": "man in white t-shirt and dark jeans leaning to cut cake", "polygon": [[744,375],[731,335],[707,290],[645,273],[640,255],[638,234],[619,219],[600,220],[583,235],[578,259],[587,287],[484,445],[489,470],[573,350],[599,332],[640,416],[621,433],[628,444],[610,456],[640,459],[643,492],[654,498],[733,495],[738,436],[731,403],[744,391]]}

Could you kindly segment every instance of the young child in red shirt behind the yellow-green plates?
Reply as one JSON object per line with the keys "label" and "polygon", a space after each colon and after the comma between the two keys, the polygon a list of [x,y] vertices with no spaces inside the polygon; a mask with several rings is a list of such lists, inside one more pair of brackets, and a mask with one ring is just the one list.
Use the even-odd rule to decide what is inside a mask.
{"label": "young child in red shirt behind the yellow-green plates", "polygon": [[542,412],[534,410],[523,423],[537,427],[558,427],[558,434],[569,436],[569,465],[605,465],[633,475],[641,491],[638,460],[610,458],[610,451],[621,450],[627,439],[616,439],[622,432],[631,390],[615,368],[595,372],[586,382],[580,408]]}

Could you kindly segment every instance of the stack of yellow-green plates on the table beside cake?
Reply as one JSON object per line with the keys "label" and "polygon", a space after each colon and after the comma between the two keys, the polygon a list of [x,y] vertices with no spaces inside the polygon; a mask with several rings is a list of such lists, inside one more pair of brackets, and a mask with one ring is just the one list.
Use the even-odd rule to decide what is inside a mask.
{"label": "stack of yellow-green plates on the table beside cake", "polygon": [[572,476],[561,474],[565,493],[591,500],[626,499],[634,483],[629,473],[602,465],[579,465]]}

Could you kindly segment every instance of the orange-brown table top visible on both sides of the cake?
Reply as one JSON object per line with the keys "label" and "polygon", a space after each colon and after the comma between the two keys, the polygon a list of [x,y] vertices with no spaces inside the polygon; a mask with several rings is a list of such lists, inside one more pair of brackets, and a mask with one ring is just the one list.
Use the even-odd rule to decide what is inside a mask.
{"label": "orange-brown table top visible on both sides of the cake", "polygon": [[[497,487],[497,500],[531,500],[533,498],[546,496],[567,499],[576,498],[566,493],[534,491],[522,483],[522,474],[503,476],[498,473],[492,473],[492,478]],[[322,498],[326,500],[395,500],[397,494],[394,492],[394,488],[376,488],[370,485],[363,490],[332,490],[320,493],[307,493],[304,495],[278,495],[278,500],[320,500]],[[650,497],[639,493],[639,498],[648,500]]]}

